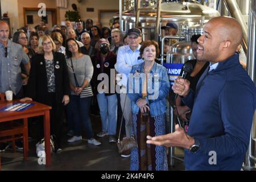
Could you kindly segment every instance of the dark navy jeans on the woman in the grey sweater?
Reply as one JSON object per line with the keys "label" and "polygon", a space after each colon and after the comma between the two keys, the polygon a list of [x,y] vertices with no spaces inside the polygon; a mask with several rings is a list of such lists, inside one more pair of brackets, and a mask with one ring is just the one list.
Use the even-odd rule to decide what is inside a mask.
{"label": "dark navy jeans on the woman in the grey sweater", "polygon": [[72,114],[75,125],[75,135],[81,136],[82,125],[88,138],[93,138],[92,123],[90,121],[89,110],[92,97],[80,98],[80,96],[70,95],[70,102],[67,111]]}

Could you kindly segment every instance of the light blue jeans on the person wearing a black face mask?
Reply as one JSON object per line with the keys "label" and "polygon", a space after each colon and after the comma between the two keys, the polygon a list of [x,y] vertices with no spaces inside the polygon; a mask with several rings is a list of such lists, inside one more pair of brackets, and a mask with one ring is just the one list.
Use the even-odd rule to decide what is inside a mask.
{"label": "light blue jeans on the person wearing a black face mask", "polygon": [[117,130],[117,95],[105,96],[97,94],[98,106],[100,107],[102,131],[109,135],[115,135]]}

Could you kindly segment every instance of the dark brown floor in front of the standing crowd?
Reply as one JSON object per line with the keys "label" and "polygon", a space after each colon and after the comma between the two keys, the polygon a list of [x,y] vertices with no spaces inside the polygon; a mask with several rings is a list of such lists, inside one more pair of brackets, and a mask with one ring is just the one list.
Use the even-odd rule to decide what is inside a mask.
{"label": "dark brown floor in front of the standing crowd", "polygon": [[[92,127],[97,134],[101,130],[100,118],[92,117]],[[38,164],[35,152],[35,140],[30,141],[30,152],[28,159],[23,162],[22,151],[13,153],[11,148],[1,153],[2,170],[12,171],[65,171],[65,170],[86,170],[86,171],[127,171],[129,170],[130,158],[121,158],[118,154],[117,145],[109,143],[109,137],[97,138],[102,142],[100,146],[88,144],[85,139],[67,143],[68,136],[64,137],[63,150],[52,153],[52,165],[46,167]],[[176,160],[175,166],[170,170],[183,170],[182,162]]]}

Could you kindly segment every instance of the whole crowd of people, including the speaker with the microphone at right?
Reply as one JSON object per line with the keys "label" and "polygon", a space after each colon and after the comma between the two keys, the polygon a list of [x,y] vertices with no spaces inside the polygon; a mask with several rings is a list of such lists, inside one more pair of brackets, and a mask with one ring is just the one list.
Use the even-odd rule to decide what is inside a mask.
{"label": "whole crowd of people, including the speaker with the microphone at right", "polygon": [[[166,35],[177,35],[175,23],[162,29]],[[175,133],[166,134],[170,81],[166,68],[155,62],[158,43],[143,42],[138,28],[123,35],[117,21],[108,28],[88,19],[85,27],[81,20],[74,26],[66,21],[65,26],[54,26],[51,31],[40,22],[35,28],[20,28],[12,39],[9,30],[0,21],[0,92],[13,90],[15,99],[52,107],[55,152],[61,151],[64,142],[64,117],[71,137],[68,143],[81,140],[84,129],[88,143],[96,146],[101,144],[96,136],[108,135],[110,143],[117,142],[116,131],[123,118],[123,136],[135,135],[138,143],[137,148],[121,154],[130,156],[131,170],[168,170],[166,147],[170,146],[185,148],[186,169],[241,168],[256,91],[237,61],[241,27],[236,20],[214,18],[205,26],[204,35],[191,39],[196,57],[189,60],[193,71],[188,79],[178,78],[172,86],[173,93],[179,94],[175,114],[189,121],[188,134],[178,126]],[[171,44],[176,40],[170,39]],[[214,71],[208,73],[211,68]],[[94,134],[90,109],[97,107],[102,129]],[[38,140],[43,138],[43,127],[39,129]],[[208,164],[212,150],[218,153],[215,166]]]}

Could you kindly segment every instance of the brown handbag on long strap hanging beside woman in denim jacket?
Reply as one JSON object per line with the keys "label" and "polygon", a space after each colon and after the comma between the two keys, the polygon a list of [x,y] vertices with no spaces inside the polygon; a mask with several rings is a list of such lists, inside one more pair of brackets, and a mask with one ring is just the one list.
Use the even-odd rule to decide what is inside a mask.
{"label": "brown handbag on long strap hanging beside woman in denim jacket", "polygon": [[[126,97],[127,97],[127,95],[126,95]],[[125,97],[125,102],[126,102],[126,97]],[[125,104],[123,106],[123,109],[125,109]],[[121,125],[120,125],[120,129],[119,129],[118,140],[117,140],[117,147],[118,147],[119,153],[129,151],[135,147],[138,148],[138,144],[137,144],[135,135],[131,135],[131,137],[124,137],[122,140],[120,139],[122,123],[123,123],[123,114],[122,114]],[[135,131],[135,128],[134,128],[134,131]]]}

